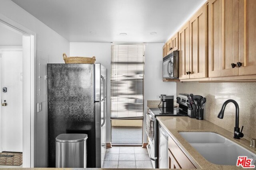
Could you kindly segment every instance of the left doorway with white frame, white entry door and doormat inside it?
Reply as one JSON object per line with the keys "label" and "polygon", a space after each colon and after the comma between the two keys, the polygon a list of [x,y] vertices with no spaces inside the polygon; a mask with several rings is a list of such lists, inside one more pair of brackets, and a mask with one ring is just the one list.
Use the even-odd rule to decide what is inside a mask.
{"label": "left doorway with white frame, white entry door and doormat inside it", "polygon": [[[19,35],[21,40],[19,45],[15,45],[13,44],[15,36],[12,37],[12,35],[5,34],[0,31],[0,50],[2,53],[0,56],[2,57],[0,59],[0,71],[2,72],[0,73],[0,97],[2,99],[1,104],[3,104],[3,106],[0,105],[0,127],[2,127],[0,130],[0,154],[1,158],[3,158],[3,153],[5,157],[15,157],[14,155],[10,155],[10,153],[6,153],[4,151],[12,151],[15,153],[22,152],[19,154],[18,158],[22,160],[22,165],[16,167],[33,168],[35,112],[34,57],[36,56],[36,34],[2,14],[0,14],[0,27],[14,33],[13,35]],[[16,57],[10,59],[10,56],[12,57],[13,55]],[[3,74],[4,76],[2,76]],[[14,84],[10,83],[12,80],[15,80]],[[2,92],[3,88],[5,93]],[[11,114],[9,114],[11,112],[15,112],[14,117],[17,117],[19,121],[17,121],[16,118],[15,120],[12,119]],[[14,168],[14,166],[0,165],[0,168],[3,167]]]}

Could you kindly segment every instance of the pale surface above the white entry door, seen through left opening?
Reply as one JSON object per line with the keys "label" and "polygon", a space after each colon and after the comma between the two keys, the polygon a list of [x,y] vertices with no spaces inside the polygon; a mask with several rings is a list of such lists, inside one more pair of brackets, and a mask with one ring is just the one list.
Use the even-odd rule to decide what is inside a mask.
{"label": "pale surface above the white entry door, seen through left opening", "polygon": [[22,35],[0,25],[0,46],[22,46]]}

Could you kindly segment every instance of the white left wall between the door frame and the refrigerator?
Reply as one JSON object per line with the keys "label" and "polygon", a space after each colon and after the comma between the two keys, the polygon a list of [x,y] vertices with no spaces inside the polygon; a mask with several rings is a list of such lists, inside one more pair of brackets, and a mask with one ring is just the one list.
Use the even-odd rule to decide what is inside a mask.
{"label": "white left wall between the door frame and the refrigerator", "polygon": [[[50,29],[47,25],[20,8],[11,0],[0,1],[0,15],[30,29],[36,33],[36,59],[45,61],[40,67],[41,73],[46,75],[46,63],[64,63],[62,53],[69,55],[69,41]],[[35,60],[36,61],[36,60]],[[36,65],[36,70],[38,69]],[[38,72],[37,72],[38,74]],[[46,86],[46,81],[42,86]],[[36,89],[40,89],[39,79],[36,77]],[[37,92],[36,92],[37,94]],[[47,130],[47,95],[36,95],[36,102],[42,102],[42,111],[35,115],[35,167],[48,166],[48,130]]]}

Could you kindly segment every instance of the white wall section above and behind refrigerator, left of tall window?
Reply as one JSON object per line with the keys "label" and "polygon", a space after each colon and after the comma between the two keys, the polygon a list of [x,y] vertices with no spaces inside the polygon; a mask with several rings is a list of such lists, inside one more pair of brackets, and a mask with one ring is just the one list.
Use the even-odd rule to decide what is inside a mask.
{"label": "white wall section above and behind refrigerator, left of tall window", "polygon": [[106,142],[110,143],[110,43],[70,43],[70,56],[96,57],[95,63],[101,63],[107,70],[106,82]]}

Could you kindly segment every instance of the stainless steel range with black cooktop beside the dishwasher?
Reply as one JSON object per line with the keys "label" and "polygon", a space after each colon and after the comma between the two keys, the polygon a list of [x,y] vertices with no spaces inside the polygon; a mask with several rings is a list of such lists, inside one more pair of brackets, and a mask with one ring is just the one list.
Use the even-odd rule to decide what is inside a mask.
{"label": "stainless steel range with black cooktop beside the dishwasher", "polygon": [[[158,107],[158,108],[149,108],[148,114],[146,116],[146,133],[148,135],[148,154],[150,156],[150,159],[152,160],[152,164],[154,168],[163,168],[165,166],[159,167],[159,141],[157,139],[160,139],[159,135],[161,131],[161,128],[159,130],[159,124],[158,121],[156,121],[157,116],[188,116],[188,98],[187,94],[179,94],[177,97],[177,103],[179,104],[179,107]],[[168,141],[167,141],[168,144]],[[167,152],[167,150],[166,150]],[[162,155],[162,153],[161,153]],[[164,160],[166,158],[163,158]],[[162,164],[162,162],[161,162]]]}

